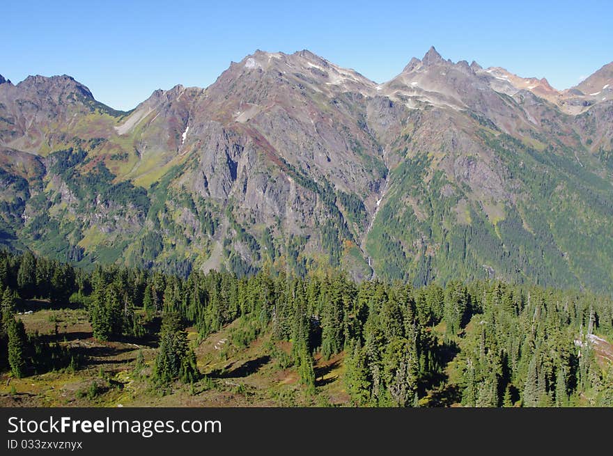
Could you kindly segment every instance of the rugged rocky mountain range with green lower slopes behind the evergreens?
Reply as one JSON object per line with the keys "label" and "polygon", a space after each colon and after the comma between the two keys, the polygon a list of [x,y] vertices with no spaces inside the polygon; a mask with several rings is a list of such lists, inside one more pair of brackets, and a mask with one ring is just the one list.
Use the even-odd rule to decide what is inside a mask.
{"label": "rugged rocky mountain range with green lower slopes behind the evergreens", "polygon": [[185,276],[341,267],[613,292],[613,63],[564,91],[432,47],[377,84],[256,51],[132,111],[0,77],[0,243]]}

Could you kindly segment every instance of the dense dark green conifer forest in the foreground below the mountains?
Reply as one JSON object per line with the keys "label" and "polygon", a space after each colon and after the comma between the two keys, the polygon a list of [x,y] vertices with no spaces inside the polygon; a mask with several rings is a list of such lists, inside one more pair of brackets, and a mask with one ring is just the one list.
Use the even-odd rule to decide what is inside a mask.
{"label": "dense dark green conifer forest in the foreground below the mountains", "polygon": [[[15,376],[29,375],[26,361],[36,358],[37,346],[40,353],[15,308],[37,297],[86,308],[99,340],[155,338],[153,378],[160,384],[201,378],[185,327],[205,338],[238,320],[236,347],[264,333],[290,342],[290,354],[272,345],[271,356],[293,366],[311,393],[314,357],[341,356],[356,406],[613,405],[613,368],[594,343],[613,336],[613,302],[596,294],[499,281],[355,283],[335,269],[306,277],[264,267],[251,276],[192,271],[180,278],[115,265],[86,271],[6,252],[0,287],[0,368]],[[55,363],[78,365],[55,345]]]}

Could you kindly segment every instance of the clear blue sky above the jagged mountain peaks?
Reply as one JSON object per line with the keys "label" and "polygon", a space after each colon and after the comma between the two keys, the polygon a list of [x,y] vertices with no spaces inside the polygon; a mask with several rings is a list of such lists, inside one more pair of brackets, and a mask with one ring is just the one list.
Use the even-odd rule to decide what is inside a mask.
{"label": "clear blue sky above the jagged mountain peaks", "polygon": [[556,88],[613,61],[610,0],[8,0],[0,11],[0,74],[70,74],[116,109],[157,88],[208,86],[256,49],[309,49],[377,82],[430,45]]}

